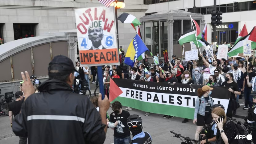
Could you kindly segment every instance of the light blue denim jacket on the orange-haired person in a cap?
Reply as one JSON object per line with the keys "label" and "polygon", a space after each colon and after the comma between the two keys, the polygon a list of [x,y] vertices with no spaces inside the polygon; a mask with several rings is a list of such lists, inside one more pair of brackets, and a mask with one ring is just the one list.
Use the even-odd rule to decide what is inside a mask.
{"label": "light blue denim jacket on the orange-haired person in a cap", "polygon": [[[211,96],[209,96],[209,101],[210,101],[211,106],[213,106],[213,100],[212,100]],[[196,98],[196,106],[195,106],[194,119],[196,119],[197,114],[200,114],[200,115],[204,115],[205,114],[205,98],[204,98],[204,96],[201,96],[201,104],[200,104],[200,106],[199,106],[199,103],[200,103],[200,101],[199,101],[199,98],[197,97]]]}

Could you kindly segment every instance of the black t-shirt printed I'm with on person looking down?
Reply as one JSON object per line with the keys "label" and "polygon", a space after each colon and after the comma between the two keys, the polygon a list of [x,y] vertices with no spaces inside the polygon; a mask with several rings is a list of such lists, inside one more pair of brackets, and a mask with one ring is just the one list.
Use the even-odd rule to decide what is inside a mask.
{"label": "black t-shirt printed I'm with on person looking down", "polygon": [[114,129],[114,137],[117,138],[125,138],[130,135],[130,130],[127,125],[127,118],[130,116],[128,111],[122,110],[121,114],[113,115],[114,112],[110,114],[109,121],[116,122],[118,121],[118,125]]}

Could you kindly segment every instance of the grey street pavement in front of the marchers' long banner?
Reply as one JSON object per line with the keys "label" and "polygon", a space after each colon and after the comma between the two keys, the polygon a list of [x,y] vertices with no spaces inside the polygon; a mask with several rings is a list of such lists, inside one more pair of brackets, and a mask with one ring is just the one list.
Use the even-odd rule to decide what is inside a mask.
{"label": "grey street pavement in front of the marchers' long banner", "polygon": [[[93,96],[94,89],[96,87],[95,84],[90,83],[91,85],[91,94]],[[241,103],[243,99],[239,100]],[[237,114],[246,116],[247,110],[242,109],[243,105],[237,109]],[[123,107],[123,110],[126,107]],[[181,141],[179,138],[171,137],[173,134],[170,131],[174,131],[175,133],[179,133],[183,136],[190,137],[194,139],[196,125],[192,123],[192,120],[189,120],[187,123],[182,123],[183,118],[174,117],[172,119],[163,118],[163,114],[150,114],[149,116],[145,116],[146,112],[141,110],[127,110],[130,114],[138,114],[142,118],[142,126],[143,130],[147,131],[152,137],[152,143],[159,144],[180,144]],[[111,107],[108,110],[108,113],[112,113]],[[235,118],[238,121],[243,121],[241,118]],[[112,144],[114,143],[113,138],[114,130],[108,129],[106,134],[106,139],[104,144]],[[10,127],[10,120],[8,116],[0,116],[0,144],[18,144],[19,137],[15,136]]]}

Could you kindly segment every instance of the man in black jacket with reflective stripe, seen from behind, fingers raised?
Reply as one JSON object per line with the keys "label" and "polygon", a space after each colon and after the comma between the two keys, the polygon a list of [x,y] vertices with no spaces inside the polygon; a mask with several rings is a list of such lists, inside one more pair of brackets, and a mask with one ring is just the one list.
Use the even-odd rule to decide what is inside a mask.
{"label": "man in black jacket with reflective stripe, seen from behind, fingers raised", "polygon": [[72,93],[73,62],[62,55],[49,63],[49,79],[35,93],[26,71],[21,73],[25,101],[20,114],[14,117],[13,132],[28,137],[28,144],[103,144],[105,141],[106,111],[109,100],[101,100],[99,112],[88,97]]}

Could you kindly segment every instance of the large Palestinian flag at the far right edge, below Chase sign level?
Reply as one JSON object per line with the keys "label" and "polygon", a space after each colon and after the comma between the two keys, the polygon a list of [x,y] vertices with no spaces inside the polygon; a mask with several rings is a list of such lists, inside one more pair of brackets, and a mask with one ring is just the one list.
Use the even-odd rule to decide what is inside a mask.
{"label": "large Palestinian flag at the far right edge, below Chase sign level", "polygon": [[239,53],[243,53],[244,51],[244,41],[250,40],[252,41],[252,49],[256,48],[256,28],[253,27],[252,31],[246,36],[240,38],[237,43],[232,47],[232,49],[228,52],[229,57],[235,56]]}

